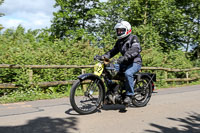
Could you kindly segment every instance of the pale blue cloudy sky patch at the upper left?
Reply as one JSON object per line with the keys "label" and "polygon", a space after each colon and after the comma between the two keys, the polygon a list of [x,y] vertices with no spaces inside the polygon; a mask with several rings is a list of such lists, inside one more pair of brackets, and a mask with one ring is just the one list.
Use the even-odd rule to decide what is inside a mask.
{"label": "pale blue cloudy sky patch at the upper left", "polygon": [[25,29],[50,27],[53,19],[55,0],[4,0],[0,12],[0,24],[4,28],[16,28],[21,24]]}

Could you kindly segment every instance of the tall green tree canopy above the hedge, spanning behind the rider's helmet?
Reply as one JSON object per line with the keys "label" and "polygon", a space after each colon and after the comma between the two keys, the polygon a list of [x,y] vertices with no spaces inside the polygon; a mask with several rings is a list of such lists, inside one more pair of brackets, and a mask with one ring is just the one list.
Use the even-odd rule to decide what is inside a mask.
{"label": "tall green tree canopy above the hedge, spanning behind the rider's helmet", "polygon": [[[85,6],[79,5],[84,2]],[[91,2],[85,0],[80,1],[80,3],[57,1],[56,6],[60,6],[61,10],[54,13],[53,21],[59,20],[59,23],[53,22],[52,30],[68,32],[71,35],[70,38],[77,36],[76,39],[93,35],[97,38],[97,46],[106,47],[110,43],[106,44],[104,41],[114,41],[115,31],[113,27],[115,24],[120,20],[126,20],[133,26],[133,33],[140,37],[141,43],[147,49],[152,47],[152,43],[154,43],[154,47],[159,47],[163,52],[180,49],[189,52],[189,49],[193,48],[194,52],[191,55],[198,54],[195,51],[199,48],[199,1],[108,0],[107,2]],[[88,4],[90,4],[90,8],[87,7]],[[85,12],[81,12],[82,15],[80,15],[78,9]],[[65,14],[63,10],[66,12]],[[76,13],[71,15],[73,12]],[[62,15],[56,16],[57,14]],[[70,24],[67,24],[67,21]],[[75,21],[77,23],[74,23]],[[54,27],[54,25],[58,25],[58,27]],[[59,28],[67,26],[70,29]],[[79,32],[76,31],[77,28]],[[92,39],[95,40],[95,38]]]}

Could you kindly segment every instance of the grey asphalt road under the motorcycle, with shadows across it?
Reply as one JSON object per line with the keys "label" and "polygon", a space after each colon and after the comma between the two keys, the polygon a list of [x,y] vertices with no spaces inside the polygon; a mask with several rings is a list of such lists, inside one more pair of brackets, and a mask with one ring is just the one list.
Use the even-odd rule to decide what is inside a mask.
{"label": "grey asphalt road under the motorcycle, with shadows across it", "polygon": [[68,98],[0,104],[0,133],[200,133],[200,85],[156,90],[146,107],[78,115]]}

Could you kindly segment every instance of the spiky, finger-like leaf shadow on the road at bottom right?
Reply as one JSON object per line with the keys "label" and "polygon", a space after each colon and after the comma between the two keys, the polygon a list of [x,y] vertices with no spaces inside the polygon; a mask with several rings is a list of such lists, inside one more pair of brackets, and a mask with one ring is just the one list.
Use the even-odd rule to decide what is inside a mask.
{"label": "spiky, finger-like leaf shadow on the road at bottom right", "polygon": [[200,114],[193,113],[186,118],[168,118],[172,121],[181,122],[179,125],[181,129],[177,127],[165,127],[151,123],[150,125],[158,128],[160,131],[146,130],[149,133],[200,133]]}

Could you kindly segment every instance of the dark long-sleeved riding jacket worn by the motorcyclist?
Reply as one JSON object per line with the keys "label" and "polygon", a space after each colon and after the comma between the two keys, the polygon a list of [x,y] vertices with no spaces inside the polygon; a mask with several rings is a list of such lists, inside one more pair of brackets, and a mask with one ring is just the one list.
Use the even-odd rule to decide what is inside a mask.
{"label": "dark long-sleeved riding jacket worn by the motorcyclist", "polygon": [[114,48],[103,56],[110,59],[120,52],[123,56],[122,64],[129,65],[134,62],[142,65],[141,51],[142,49],[138,37],[130,34],[123,39],[118,39]]}

